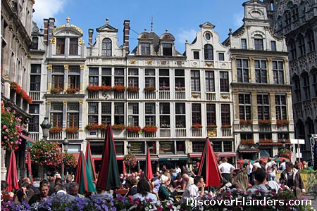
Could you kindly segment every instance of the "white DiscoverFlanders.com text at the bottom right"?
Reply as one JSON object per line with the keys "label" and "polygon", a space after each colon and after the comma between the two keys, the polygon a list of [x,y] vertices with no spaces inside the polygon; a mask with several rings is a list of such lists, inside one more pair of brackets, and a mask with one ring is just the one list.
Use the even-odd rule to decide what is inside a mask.
{"label": "white DiscoverFlanders.com text at the bottom right", "polygon": [[276,200],[276,199],[267,199],[264,197],[261,200],[254,200],[254,199],[247,199],[247,198],[235,198],[232,200],[225,199],[225,200],[217,200],[217,199],[209,199],[209,200],[202,200],[202,199],[194,199],[194,198],[186,198],[186,205],[187,206],[299,206],[299,205],[309,205],[311,206],[311,200]]}

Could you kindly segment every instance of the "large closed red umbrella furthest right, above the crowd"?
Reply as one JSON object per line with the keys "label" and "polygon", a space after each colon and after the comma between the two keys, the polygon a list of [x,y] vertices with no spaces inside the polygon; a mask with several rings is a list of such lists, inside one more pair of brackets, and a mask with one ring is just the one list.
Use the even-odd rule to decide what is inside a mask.
{"label": "large closed red umbrella furthest right, above the crowd", "polygon": [[213,152],[213,147],[208,137],[206,138],[204,151],[201,155],[198,175],[204,177],[206,186],[220,186],[222,176],[219,172],[216,155]]}

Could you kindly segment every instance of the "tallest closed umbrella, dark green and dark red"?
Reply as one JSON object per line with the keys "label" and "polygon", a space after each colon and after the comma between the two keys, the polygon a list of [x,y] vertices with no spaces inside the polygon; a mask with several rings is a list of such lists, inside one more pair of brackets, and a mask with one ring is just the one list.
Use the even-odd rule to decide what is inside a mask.
{"label": "tallest closed umbrella, dark green and dark red", "polygon": [[120,187],[118,162],[116,157],[116,148],[111,125],[108,124],[104,140],[104,151],[101,158],[101,169],[97,180],[97,188],[108,190]]}

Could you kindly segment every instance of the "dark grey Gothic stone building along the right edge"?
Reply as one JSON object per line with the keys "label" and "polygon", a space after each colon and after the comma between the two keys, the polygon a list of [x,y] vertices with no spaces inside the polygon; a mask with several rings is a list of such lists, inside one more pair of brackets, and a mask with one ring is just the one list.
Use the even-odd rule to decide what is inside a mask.
{"label": "dark grey Gothic stone building along the right edge", "polygon": [[264,1],[271,26],[286,39],[296,139],[301,145],[302,158],[308,160],[313,152],[311,135],[317,133],[317,1]]}

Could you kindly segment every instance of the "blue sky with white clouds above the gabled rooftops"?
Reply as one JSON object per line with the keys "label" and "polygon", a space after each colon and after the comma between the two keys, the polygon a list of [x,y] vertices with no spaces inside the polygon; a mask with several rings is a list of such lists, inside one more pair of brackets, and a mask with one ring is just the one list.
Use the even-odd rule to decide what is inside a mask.
{"label": "blue sky with white clouds above the gabled rooftops", "polygon": [[[236,30],[242,25],[244,8],[242,0],[36,0],[34,20],[39,27],[43,26],[44,18],[55,18],[56,25],[66,23],[80,27],[84,32],[85,44],[88,43],[88,29],[94,29],[106,23],[118,29],[119,45],[123,44],[123,21],[130,20],[130,49],[137,44],[137,34],[147,29],[159,36],[166,29],[175,36],[175,47],[183,53],[185,40],[192,42],[199,25],[209,21],[216,25],[215,31],[224,41],[229,28]],[[94,39],[93,38],[93,39]]]}

